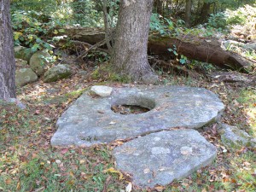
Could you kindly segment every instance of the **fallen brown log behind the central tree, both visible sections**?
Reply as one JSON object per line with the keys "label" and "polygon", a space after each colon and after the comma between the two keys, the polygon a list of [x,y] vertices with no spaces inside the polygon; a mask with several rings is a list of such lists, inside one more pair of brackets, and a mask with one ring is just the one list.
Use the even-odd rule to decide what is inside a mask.
{"label": "fallen brown log behind the central tree, both visible sections", "polygon": [[[65,34],[72,39],[96,44],[105,38],[102,28],[66,28]],[[185,38],[160,37],[150,35],[148,38],[148,54],[159,55],[160,58],[171,59],[173,53],[168,49],[176,46],[178,55],[185,55],[189,59],[209,62],[213,65],[243,72],[252,71],[255,61],[221,48],[217,39],[205,39],[187,36]],[[254,62],[254,64],[253,64]],[[253,66],[254,65],[254,66]]]}

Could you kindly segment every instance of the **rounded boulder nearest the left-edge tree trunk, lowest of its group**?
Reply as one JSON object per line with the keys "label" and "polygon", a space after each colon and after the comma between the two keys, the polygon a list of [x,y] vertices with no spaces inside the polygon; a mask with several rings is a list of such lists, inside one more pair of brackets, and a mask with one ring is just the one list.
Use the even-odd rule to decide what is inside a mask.
{"label": "rounded boulder nearest the left-edge tree trunk, lowest of its group", "polygon": [[24,86],[26,84],[35,82],[38,80],[38,75],[32,71],[31,68],[20,68],[15,73],[16,86]]}

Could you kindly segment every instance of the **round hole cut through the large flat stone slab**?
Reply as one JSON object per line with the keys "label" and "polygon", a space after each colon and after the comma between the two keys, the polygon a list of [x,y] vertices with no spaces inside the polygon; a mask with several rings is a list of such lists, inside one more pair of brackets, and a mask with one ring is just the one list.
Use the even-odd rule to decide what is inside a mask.
{"label": "round hole cut through the large flat stone slab", "polygon": [[146,113],[155,107],[154,99],[145,96],[126,96],[118,98],[111,105],[111,110],[119,114]]}

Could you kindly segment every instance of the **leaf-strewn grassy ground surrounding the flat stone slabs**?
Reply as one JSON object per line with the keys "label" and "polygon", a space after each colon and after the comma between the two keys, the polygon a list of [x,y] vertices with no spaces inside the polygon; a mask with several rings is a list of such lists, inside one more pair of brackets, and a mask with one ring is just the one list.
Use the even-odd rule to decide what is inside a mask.
{"label": "leaf-strewn grassy ground surrounding the flat stone slabs", "polygon": [[[39,80],[20,88],[18,98],[26,104],[25,110],[14,105],[1,107],[0,191],[125,191],[131,182],[131,177],[114,168],[114,145],[52,148],[49,143],[56,131],[56,120],[84,90],[95,84],[122,86],[106,80],[108,77],[93,79],[94,67],[87,68],[87,75],[80,70],[73,67],[69,79],[50,84]],[[190,72],[194,75],[184,77],[158,69],[159,84],[212,90],[226,106],[222,121],[256,137],[255,87],[213,81]],[[218,148],[218,157],[211,166],[164,187],[133,186],[132,191],[255,191],[255,148],[225,148],[216,129],[217,125],[212,124],[201,130],[201,135]]]}

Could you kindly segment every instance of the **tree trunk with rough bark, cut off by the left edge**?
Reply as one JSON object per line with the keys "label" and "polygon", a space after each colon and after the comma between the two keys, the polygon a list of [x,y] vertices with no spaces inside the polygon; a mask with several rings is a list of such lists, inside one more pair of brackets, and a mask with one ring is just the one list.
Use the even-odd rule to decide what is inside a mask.
{"label": "tree trunk with rough bark, cut off by the left edge", "polygon": [[0,0],[0,99],[15,97],[15,54],[9,0]]}

